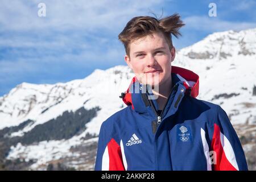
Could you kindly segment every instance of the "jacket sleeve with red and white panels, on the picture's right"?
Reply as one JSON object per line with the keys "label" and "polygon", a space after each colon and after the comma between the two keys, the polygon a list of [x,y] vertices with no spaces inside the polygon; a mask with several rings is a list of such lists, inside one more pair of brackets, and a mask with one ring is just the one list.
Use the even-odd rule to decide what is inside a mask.
{"label": "jacket sleeve with red and white panels, on the picture's right", "polygon": [[211,151],[214,154],[213,170],[248,170],[240,140],[228,115],[220,106],[218,106],[217,119],[214,121]]}

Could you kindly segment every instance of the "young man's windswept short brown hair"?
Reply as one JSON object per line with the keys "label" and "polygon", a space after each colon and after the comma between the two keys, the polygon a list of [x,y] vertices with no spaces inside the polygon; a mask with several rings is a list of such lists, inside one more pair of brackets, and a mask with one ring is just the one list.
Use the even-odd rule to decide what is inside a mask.
{"label": "young man's windswept short brown hair", "polygon": [[166,18],[156,19],[152,16],[136,16],[132,18],[118,35],[118,39],[125,46],[126,55],[130,57],[130,43],[144,36],[162,32],[171,50],[172,35],[176,38],[181,35],[180,27],[185,24],[180,20],[179,14],[173,14]]}

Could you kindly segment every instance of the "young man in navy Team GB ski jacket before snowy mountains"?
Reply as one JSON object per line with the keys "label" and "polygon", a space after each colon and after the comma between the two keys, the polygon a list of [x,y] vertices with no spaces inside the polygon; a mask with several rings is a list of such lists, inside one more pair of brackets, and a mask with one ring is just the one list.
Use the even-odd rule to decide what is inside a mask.
{"label": "young man in navy Team GB ski jacket before snowy mountains", "polygon": [[127,107],[102,123],[96,170],[247,170],[225,111],[196,99],[199,76],[171,66],[182,26],[177,14],[138,16],[119,34],[135,77]]}

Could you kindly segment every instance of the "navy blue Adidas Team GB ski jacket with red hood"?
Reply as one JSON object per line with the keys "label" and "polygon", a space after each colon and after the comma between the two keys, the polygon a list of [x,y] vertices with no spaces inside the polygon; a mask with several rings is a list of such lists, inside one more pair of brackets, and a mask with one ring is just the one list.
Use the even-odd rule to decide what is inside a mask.
{"label": "navy blue Adidas Team GB ski jacket with red hood", "polygon": [[150,89],[133,78],[122,93],[127,107],[101,125],[95,170],[247,170],[225,111],[196,99],[199,76],[174,66],[171,76],[161,113]]}

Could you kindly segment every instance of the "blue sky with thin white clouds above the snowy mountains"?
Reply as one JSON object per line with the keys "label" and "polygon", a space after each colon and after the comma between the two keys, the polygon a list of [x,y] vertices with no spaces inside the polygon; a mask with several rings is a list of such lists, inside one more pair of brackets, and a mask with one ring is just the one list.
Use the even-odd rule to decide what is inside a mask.
{"label": "blue sky with thin white clouds above the snowy mountains", "polygon": [[[46,16],[38,16],[38,4]],[[209,17],[209,3],[217,16]],[[68,1],[2,0],[0,96],[21,82],[53,84],[84,78],[94,69],[125,65],[118,34],[134,16],[179,13],[185,27],[177,49],[217,31],[256,27],[256,1]]]}

